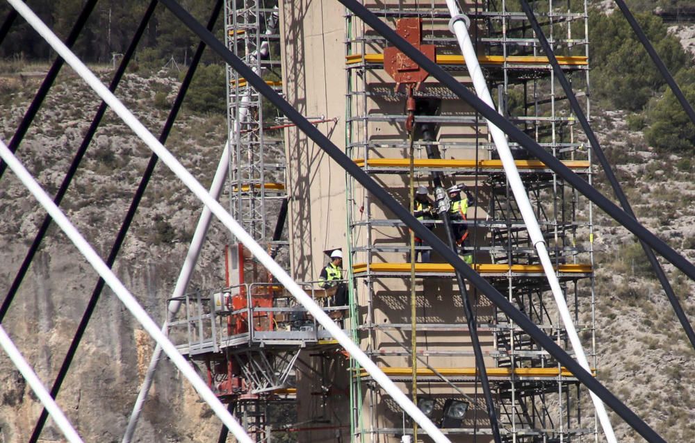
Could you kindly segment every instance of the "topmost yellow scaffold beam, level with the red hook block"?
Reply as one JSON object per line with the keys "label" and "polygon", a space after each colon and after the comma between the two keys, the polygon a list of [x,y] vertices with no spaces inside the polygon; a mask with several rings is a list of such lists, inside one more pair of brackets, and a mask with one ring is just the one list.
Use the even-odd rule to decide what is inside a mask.
{"label": "topmost yellow scaffold beam, level with the red hook block", "polygon": [[[505,62],[512,65],[550,65],[548,57],[539,56],[478,56],[480,65],[503,65]],[[384,54],[366,53],[351,54],[345,56],[345,64],[356,65],[358,63],[383,63]],[[464,56],[455,54],[436,54],[436,62],[439,65],[465,65]],[[585,56],[557,56],[560,66],[587,66],[589,60]]]}

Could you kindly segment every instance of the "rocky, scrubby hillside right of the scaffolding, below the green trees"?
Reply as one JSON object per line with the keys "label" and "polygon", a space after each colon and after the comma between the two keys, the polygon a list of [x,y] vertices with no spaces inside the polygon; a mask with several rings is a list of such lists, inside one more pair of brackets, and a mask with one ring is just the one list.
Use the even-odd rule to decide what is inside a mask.
{"label": "rocky, scrubby hillside right of the scaffolding, below the green trees", "polygon": [[[625,112],[599,111],[594,130],[638,219],[693,261],[691,158],[655,152],[641,132],[628,129],[626,117]],[[616,201],[602,173],[596,185]],[[598,378],[667,441],[695,441],[695,386],[689,383],[695,376],[695,351],[635,236],[600,210],[594,213]],[[695,285],[673,266],[664,269],[693,321]],[[585,319],[590,315],[584,312]],[[619,417],[612,422],[619,441],[644,441]]]}

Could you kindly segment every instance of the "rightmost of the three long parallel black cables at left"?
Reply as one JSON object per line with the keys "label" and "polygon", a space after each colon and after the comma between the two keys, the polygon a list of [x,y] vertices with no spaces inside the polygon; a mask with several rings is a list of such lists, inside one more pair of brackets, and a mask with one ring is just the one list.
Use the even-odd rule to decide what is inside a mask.
{"label": "rightmost of the three long parallel black cables at left", "polygon": [[[154,2],[153,2],[154,3]],[[215,3],[215,8],[213,9],[213,12],[211,13],[210,20],[208,22],[208,29],[212,29],[213,26],[215,25],[215,22],[217,21],[219,15],[220,15],[220,10],[222,10],[222,0],[217,0]],[[177,94],[176,99],[174,100],[174,103],[172,105],[172,109],[169,112],[169,115],[167,117],[167,120],[164,124],[164,127],[161,131],[161,135],[159,135],[159,141],[164,144],[167,140],[167,137],[169,137],[170,131],[172,126],[174,125],[174,121],[176,120],[176,117],[179,113],[179,110],[181,109],[181,105],[183,104],[183,99],[186,97],[186,92],[188,92],[188,87],[190,86],[191,81],[193,81],[193,75],[195,74],[195,71],[199,65],[200,59],[202,58],[203,51],[205,49],[206,45],[204,42],[200,42],[198,44],[198,47],[195,51],[195,55],[193,56],[193,60],[190,62],[190,66],[188,67],[188,72],[186,72],[186,77],[183,78],[183,81],[181,82],[181,87],[179,87],[179,94]],[[111,268],[113,266],[113,263],[116,260],[116,257],[118,253],[120,252],[120,248],[125,241],[126,234],[129,231],[131,222],[133,222],[133,219],[135,218],[136,211],[138,210],[138,207],[140,206],[140,201],[142,200],[142,196],[145,194],[145,190],[147,189],[147,184],[149,183],[149,179],[152,177],[152,174],[154,172],[154,167],[157,164],[158,157],[153,153],[152,156],[149,159],[149,163],[147,164],[147,168],[145,169],[145,172],[142,174],[142,178],[140,180],[140,185],[138,185],[138,190],[136,190],[136,193],[133,195],[133,200],[131,201],[131,205],[128,208],[128,212],[126,213],[126,217],[123,220],[123,223],[120,227],[120,230],[118,231],[116,235],[116,240],[113,243],[113,246],[111,246],[111,252],[108,254],[108,258],[106,260],[106,265]],[[82,340],[82,337],[87,329],[87,326],[89,324],[89,321],[92,317],[92,314],[94,313],[94,310],[97,306],[97,302],[99,301],[99,296],[101,296],[101,291],[104,289],[104,279],[99,278],[99,281],[97,281],[97,285],[95,286],[94,290],[92,291],[92,295],[90,296],[90,301],[87,305],[87,308],[85,308],[85,312],[82,316],[82,319],[80,321],[80,324],[77,328],[77,331],[72,339],[72,342],[70,343],[70,349],[68,349],[67,355],[65,356],[65,360],[63,360],[63,365],[60,366],[60,371],[58,372],[58,376],[56,377],[56,381],[54,382],[53,387],[51,387],[51,396],[56,398],[58,396],[58,392],[60,392],[60,386],[63,384],[63,381],[65,380],[65,376],[67,375],[68,369],[70,369],[70,365],[72,364],[72,360],[75,356],[75,353],[77,351],[77,347],[79,346],[80,341]],[[35,443],[38,440],[38,437],[40,436],[41,430],[45,424],[45,420],[48,417],[48,414],[46,410],[44,409],[42,411],[40,421],[37,423],[36,428],[34,429],[34,433],[32,434],[32,440],[31,443]],[[43,421],[41,419],[43,418]],[[36,439],[36,440],[35,440]]]}

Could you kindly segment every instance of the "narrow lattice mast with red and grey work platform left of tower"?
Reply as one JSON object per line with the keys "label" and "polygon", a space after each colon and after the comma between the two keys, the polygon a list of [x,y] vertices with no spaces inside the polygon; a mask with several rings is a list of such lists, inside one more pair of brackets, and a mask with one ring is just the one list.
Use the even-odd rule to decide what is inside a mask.
{"label": "narrow lattice mast with red and grey work platform left of tower", "polygon": [[[277,8],[256,0],[228,0],[224,17],[227,48],[281,91],[275,79],[281,66],[274,56]],[[265,115],[272,107],[263,105],[261,94],[228,65],[230,213],[275,256],[287,244],[279,235],[286,208],[284,144],[271,131],[274,116]],[[229,403],[256,441],[263,441],[273,427],[286,424],[274,417],[287,416],[287,408],[293,408],[300,350],[307,342],[324,340],[325,332],[306,319],[306,311],[234,238],[224,264],[227,287],[175,300],[183,309],[169,330],[181,353],[207,374],[213,392]],[[220,440],[226,435],[223,428]]]}

